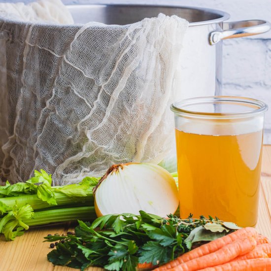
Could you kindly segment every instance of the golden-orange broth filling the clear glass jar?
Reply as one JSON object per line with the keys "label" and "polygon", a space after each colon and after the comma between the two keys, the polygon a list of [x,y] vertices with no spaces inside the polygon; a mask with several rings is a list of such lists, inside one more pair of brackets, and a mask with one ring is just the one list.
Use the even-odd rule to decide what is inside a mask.
{"label": "golden-orange broth filling the clear glass jar", "polygon": [[262,131],[242,135],[175,131],[181,217],[211,215],[238,226],[255,226]]}

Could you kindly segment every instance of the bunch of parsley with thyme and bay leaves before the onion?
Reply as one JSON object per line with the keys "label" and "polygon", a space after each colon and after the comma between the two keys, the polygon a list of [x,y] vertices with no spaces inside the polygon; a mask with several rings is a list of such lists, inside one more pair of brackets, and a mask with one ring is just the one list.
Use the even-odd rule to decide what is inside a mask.
{"label": "bunch of parsley with thyme and bay leaves before the onion", "polygon": [[238,229],[218,218],[180,219],[170,214],[165,219],[143,211],[140,215],[105,215],[92,224],[78,222],[75,235],[45,237],[49,242],[61,240],[47,255],[54,265],[134,271],[138,263],[162,265],[192,246]]}

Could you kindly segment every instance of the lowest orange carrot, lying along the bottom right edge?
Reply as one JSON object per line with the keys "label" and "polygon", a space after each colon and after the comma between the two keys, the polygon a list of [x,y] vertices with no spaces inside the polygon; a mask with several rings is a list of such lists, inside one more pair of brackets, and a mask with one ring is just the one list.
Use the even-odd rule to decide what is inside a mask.
{"label": "lowest orange carrot, lying along the bottom right edge", "polygon": [[269,271],[271,270],[271,259],[250,259],[234,261],[215,267],[208,267],[200,271]]}

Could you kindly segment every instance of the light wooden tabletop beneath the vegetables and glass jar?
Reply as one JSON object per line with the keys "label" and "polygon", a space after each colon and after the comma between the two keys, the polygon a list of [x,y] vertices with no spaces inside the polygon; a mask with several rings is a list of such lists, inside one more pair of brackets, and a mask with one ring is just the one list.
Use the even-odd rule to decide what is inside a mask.
{"label": "light wooden tabletop beneath the vegetables and glass jar", "polygon": [[[256,229],[271,239],[271,145],[264,146],[259,219]],[[72,230],[69,223],[35,227],[14,241],[5,241],[0,237],[0,271],[72,271],[67,267],[53,266],[46,255],[51,250],[49,243],[42,241],[47,234],[65,234]],[[101,268],[89,268],[88,271],[102,271]]]}

